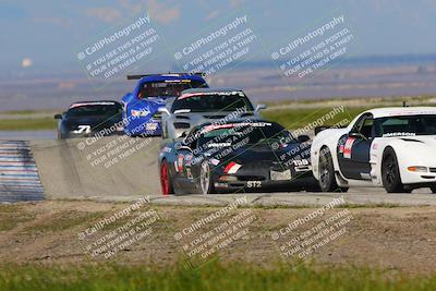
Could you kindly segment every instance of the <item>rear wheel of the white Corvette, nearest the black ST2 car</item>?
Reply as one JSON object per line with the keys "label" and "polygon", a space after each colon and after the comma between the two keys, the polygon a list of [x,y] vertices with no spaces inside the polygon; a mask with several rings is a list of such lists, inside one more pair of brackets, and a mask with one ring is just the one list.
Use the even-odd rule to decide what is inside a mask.
{"label": "rear wheel of the white Corvette, nearest the black ST2 car", "polygon": [[[319,187],[323,192],[347,192],[348,187],[340,187],[336,182],[335,167],[331,158],[330,150],[323,148],[319,156]],[[324,153],[324,154],[323,154]]]}

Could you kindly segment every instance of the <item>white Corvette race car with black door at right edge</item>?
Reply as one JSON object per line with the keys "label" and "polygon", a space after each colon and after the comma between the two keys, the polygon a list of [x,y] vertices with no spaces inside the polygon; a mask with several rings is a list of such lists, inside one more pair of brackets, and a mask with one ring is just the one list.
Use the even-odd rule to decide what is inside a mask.
{"label": "white Corvette race car with black door at right edge", "polygon": [[311,155],[324,192],[383,186],[389,193],[436,193],[436,107],[365,111],[348,128],[319,132]]}

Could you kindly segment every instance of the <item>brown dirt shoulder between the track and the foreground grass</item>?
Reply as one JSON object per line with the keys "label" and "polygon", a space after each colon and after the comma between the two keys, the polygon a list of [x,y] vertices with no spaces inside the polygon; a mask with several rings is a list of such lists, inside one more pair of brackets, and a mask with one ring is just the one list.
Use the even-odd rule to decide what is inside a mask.
{"label": "brown dirt shoulder between the track and the foreground grass", "polygon": [[[314,230],[314,227],[320,226],[319,222],[328,221],[328,218],[339,213],[347,213],[352,219],[343,225],[342,229],[346,231],[341,235],[330,237],[330,241],[325,244],[320,239],[314,241],[313,243],[317,243],[316,250],[312,248],[314,252],[304,256],[304,259],[413,274],[436,271],[435,206],[330,209],[328,214],[293,230],[289,229],[292,222],[304,219],[316,208],[237,208],[223,215],[219,213],[223,208],[219,207],[152,206],[134,209],[129,216],[118,216],[112,222],[109,221],[129,207],[131,204],[63,201],[0,205],[0,260],[17,264],[173,264],[180,258],[189,259],[186,252],[192,250],[187,250],[186,243],[198,246],[198,240],[205,239],[206,233],[210,234],[210,230],[219,228],[222,232],[229,231],[222,228],[222,221],[229,221],[229,217],[234,217],[235,221],[235,218],[242,219],[242,214],[250,213],[253,219],[244,220],[247,222],[244,225],[246,231],[233,237],[238,240],[226,245],[221,243],[221,247],[216,250],[220,259],[262,265],[284,259],[294,264],[299,259],[298,255],[286,256],[282,252],[283,245],[290,242],[292,235],[295,238],[302,233],[307,234],[307,230]],[[221,215],[218,219],[206,219],[217,213]],[[95,245],[102,245],[101,238],[105,235],[120,228],[125,232],[130,231],[132,226],[129,223],[135,218],[138,223],[145,222],[145,219],[140,219],[142,214],[154,214],[158,217],[147,226],[153,226],[147,237],[144,235],[129,245],[124,244],[109,258],[105,258],[104,253],[95,256],[89,254]],[[152,217],[148,216],[147,221]],[[97,227],[96,230],[96,226],[105,219],[107,225]],[[197,228],[193,228],[193,222],[196,221],[202,222],[194,223]],[[240,225],[243,225],[242,220]],[[86,230],[94,233],[81,237]],[[199,232],[196,238],[187,238],[187,234],[192,234],[190,231]],[[323,231],[324,229],[316,228],[315,234]],[[271,238],[275,233],[283,232],[287,235],[280,235],[276,240]],[[118,237],[121,233],[122,231]],[[191,241],[183,241],[184,238],[174,239],[174,233],[187,233],[186,239]],[[111,237],[112,241],[113,239]]]}

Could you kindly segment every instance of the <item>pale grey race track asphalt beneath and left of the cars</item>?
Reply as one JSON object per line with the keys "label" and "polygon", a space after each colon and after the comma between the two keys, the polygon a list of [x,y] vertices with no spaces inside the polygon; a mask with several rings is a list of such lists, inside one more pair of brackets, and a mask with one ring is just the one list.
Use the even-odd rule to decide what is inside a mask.
{"label": "pale grey race track asphalt beneath and left of the cars", "polygon": [[348,193],[246,193],[160,195],[157,170],[159,137],[123,136],[100,140],[32,141],[45,196],[49,199],[130,202],[148,196],[164,205],[227,205],[246,196],[249,205],[320,206],[343,196],[350,205],[436,205],[429,190],[387,194],[383,189],[352,189]]}

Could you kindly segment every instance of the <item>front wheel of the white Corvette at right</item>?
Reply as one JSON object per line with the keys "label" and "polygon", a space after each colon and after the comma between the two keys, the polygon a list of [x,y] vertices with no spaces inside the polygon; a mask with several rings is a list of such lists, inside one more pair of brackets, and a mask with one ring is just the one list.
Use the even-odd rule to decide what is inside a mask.
{"label": "front wheel of the white Corvette at right", "polygon": [[407,193],[401,182],[400,169],[398,168],[397,155],[392,148],[387,148],[382,162],[383,186],[388,193]]}

